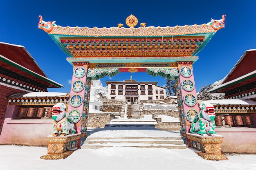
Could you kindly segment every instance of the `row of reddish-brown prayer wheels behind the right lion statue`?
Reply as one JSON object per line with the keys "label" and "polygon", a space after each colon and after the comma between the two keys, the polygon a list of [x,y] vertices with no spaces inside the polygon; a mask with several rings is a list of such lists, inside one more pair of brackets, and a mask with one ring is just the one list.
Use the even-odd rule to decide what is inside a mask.
{"label": "row of reddish-brown prayer wheels behind the right lion statue", "polygon": [[216,115],[216,126],[223,126],[222,117],[224,117],[225,125],[229,126],[250,126],[253,125],[251,115]]}

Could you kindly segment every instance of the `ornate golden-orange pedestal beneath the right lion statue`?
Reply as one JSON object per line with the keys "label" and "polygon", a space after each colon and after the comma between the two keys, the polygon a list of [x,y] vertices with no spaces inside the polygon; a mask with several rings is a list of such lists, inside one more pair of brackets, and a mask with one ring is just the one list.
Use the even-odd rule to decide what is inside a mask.
{"label": "ornate golden-orange pedestal beneath the right lion statue", "polygon": [[192,148],[200,151],[196,151],[200,157],[207,160],[225,160],[228,159],[226,155],[221,153],[220,145],[223,142],[221,135],[204,137],[198,134],[186,134],[189,139],[189,144]]}

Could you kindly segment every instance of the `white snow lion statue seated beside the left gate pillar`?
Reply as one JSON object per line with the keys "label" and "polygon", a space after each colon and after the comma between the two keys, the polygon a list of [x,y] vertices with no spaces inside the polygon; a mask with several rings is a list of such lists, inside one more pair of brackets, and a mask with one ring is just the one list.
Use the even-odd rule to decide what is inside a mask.
{"label": "white snow lion statue seated beside the left gate pillar", "polygon": [[66,117],[66,111],[67,107],[64,103],[58,103],[52,107],[52,118],[54,120],[52,122],[54,125],[52,136],[58,136],[59,132],[61,132],[60,136],[76,132],[72,119]]}

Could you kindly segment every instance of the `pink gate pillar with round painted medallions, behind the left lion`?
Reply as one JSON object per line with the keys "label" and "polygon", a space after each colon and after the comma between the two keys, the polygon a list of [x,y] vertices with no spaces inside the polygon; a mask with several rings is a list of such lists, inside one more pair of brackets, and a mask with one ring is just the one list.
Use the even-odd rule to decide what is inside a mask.
{"label": "pink gate pillar with round painted medallions, behind the left lion", "polygon": [[91,80],[87,78],[88,62],[74,64],[67,117],[72,117],[76,133],[81,134],[79,145],[87,136],[87,120],[90,101]]}

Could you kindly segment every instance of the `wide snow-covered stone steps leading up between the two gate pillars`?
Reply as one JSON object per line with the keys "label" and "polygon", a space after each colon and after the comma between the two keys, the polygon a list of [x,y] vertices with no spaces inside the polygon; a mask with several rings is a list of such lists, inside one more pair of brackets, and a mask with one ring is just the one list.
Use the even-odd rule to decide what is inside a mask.
{"label": "wide snow-covered stone steps leading up between the two gate pillars", "polygon": [[159,130],[155,124],[156,121],[148,115],[144,119],[112,119],[105,128],[88,128],[88,137],[81,148],[186,148],[179,131]]}

